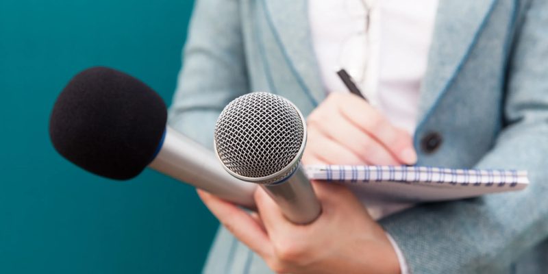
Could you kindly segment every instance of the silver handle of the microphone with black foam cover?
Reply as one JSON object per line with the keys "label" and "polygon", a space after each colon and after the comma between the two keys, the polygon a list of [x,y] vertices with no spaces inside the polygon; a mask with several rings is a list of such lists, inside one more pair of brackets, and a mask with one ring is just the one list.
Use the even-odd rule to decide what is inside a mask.
{"label": "silver handle of the microphone with black foam cover", "polygon": [[247,208],[256,208],[256,186],[229,175],[214,153],[171,127],[149,167]]}

